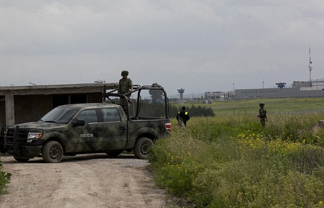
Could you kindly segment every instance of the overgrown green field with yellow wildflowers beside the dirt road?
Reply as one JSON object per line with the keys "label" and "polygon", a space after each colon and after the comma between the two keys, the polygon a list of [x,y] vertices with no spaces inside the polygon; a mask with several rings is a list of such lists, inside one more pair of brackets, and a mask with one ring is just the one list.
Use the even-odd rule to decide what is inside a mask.
{"label": "overgrown green field with yellow wildflowers beside the dirt road", "polygon": [[[267,107],[267,105],[266,105]],[[324,207],[324,114],[193,117],[157,140],[156,183],[198,207]]]}

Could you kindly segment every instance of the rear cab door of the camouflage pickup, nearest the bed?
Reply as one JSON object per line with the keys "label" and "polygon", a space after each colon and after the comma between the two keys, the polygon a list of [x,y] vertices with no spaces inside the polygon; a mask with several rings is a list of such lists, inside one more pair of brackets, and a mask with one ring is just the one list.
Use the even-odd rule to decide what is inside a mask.
{"label": "rear cab door of the camouflage pickup, nearest the bed", "polygon": [[[102,134],[105,150],[124,149],[127,144],[127,123],[116,108],[102,108]],[[123,119],[122,119],[123,118]]]}

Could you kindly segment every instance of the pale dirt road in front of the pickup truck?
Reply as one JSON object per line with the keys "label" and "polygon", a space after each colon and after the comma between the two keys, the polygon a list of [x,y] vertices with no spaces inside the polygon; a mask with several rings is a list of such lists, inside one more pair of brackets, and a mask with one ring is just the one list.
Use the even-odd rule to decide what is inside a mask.
{"label": "pale dirt road in front of the pickup truck", "polygon": [[146,160],[122,154],[64,157],[49,164],[42,158],[20,163],[2,155],[3,171],[12,173],[10,194],[0,196],[0,207],[166,207]]}

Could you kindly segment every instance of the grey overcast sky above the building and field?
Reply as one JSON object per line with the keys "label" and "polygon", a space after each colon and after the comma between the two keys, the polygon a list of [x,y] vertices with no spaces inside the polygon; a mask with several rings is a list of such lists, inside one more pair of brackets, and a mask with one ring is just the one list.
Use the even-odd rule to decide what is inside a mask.
{"label": "grey overcast sky above the building and field", "polygon": [[323,0],[0,0],[0,86],[158,83],[185,94],[324,78]]}

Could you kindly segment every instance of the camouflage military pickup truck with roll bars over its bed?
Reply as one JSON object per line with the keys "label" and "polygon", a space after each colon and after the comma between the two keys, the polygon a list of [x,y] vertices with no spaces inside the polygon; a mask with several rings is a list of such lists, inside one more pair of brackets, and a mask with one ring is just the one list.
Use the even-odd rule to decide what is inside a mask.
{"label": "camouflage military pickup truck with roll bars over its bed", "polygon": [[[141,116],[140,91],[157,88],[165,96],[163,116]],[[100,103],[63,105],[39,121],[2,126],[0,150],[12,154],[19,162],[43,157],[45,162],[59,163],[63,155],[99,152],[116,157],[124,150],[133,150],[135,157],[148,159],[148,147],[171,132],[169,102],[161,87],[138,86],[134,92],[138,94],[137,100],[131,101],[126,95],[113,91],[105,92]],[[130,104],[123,108],[112,96],[128,99],[133,104],[132,108]],[[112,103],[108,103],[109,100]],[[125,113],[132,112],[132,109],[133,116]]]}

